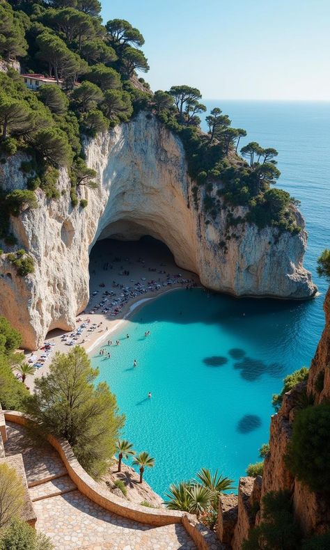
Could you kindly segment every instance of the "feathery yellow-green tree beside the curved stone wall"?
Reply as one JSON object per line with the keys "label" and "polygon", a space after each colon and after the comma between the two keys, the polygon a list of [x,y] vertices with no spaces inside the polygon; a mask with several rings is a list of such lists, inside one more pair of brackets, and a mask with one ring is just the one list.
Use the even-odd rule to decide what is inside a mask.
{"label": "feathery yellow-green tree beside the curved stone wall", "polygon": [[28,404],[40,428],[68,439],[81,465],[94,477],[107,469],[124,422],[107,384],[95,386],[97,375],[83,348],[56,353],[49,374],[35,380]]}

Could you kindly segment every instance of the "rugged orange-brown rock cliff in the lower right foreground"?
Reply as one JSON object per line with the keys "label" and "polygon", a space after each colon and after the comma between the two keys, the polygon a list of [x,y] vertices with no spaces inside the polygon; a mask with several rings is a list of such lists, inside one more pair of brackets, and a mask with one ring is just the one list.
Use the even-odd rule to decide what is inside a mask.
{"label": "rugged orange-brown rock cliff in the lower right foreground", "polygon": [[[270,425],[270,450],[265,458],[260,491],[260,477],[241,478],[239,494],[221,497],[219,505],[218,536],[233,550],[241,550],[242,541],[249,536],[249,529],[262,519],[262,496],[269,491],[287,489],[292,494],[294,517],[301,533],[306,537],[324,533],[330,528],[330,505],[326,493],[315,493],[292,476],[285,464],[285,453],[292,436],[292,422],[302,395],[313,395],[314,404],[330,397],[330,289],[324,301],[325,327],[311,363],[307,382],[301,382],[285,393],[281,409],[272,416]],[[323,388],[320,384],[324,379]],[[258,495],[256,498],[256,494]],[[259,501],[253,510],[253,503]]]}

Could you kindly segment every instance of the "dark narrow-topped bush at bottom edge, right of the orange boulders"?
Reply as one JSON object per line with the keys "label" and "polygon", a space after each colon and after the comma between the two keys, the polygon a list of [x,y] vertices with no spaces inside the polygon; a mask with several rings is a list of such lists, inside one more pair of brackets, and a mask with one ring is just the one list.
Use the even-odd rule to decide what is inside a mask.
{"label": "dark narrow-topped bush at bottom edge, right of the orange boulders", "polygon": [[297,550],[301,533],[294,522],[289,491],[269,492],[262,498],[260,525],[249,531],[242,550]]}

